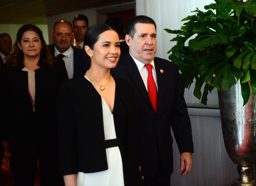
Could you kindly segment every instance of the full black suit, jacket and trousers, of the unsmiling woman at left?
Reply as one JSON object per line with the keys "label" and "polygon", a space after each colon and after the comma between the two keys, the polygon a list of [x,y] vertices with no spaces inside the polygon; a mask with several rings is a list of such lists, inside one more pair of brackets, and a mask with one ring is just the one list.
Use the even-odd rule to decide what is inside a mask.
{"label": "full black suit, jacket and trousers, of the unsmiling woman at left", "polygon": [[40,58],[35,70],[35,112],[28,92],[28,72],[23,63],[2,66],[0,76],[0,131],[9,140],[14,171],[14,185],[34,185],[37,159],[40,163],[40,185],[59,185],[59,153],[56,102],[60,84],[67,80],[64,61],[53,67]]}

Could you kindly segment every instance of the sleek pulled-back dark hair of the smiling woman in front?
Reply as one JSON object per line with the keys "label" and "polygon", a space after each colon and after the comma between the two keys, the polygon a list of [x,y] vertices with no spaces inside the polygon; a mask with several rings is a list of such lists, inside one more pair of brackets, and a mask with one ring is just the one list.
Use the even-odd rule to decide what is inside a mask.
{"label": "sleek pulled-back dark hair of the smiling woman in front", "polygon": [[[83,52],[84,52],[84,59],[88,59],[89,56],[84,50],[84,46],[87,45],[90,47],[90,49],[94,49],[94,44],[98,41],[99,35],[104,31],[111,31],[111,29],[108,25],[104,24],[95,24],[92,25],[88,31],[86,32],[84,39],[83,39]],[[89,58],[90,59],[90,58]],[[90,61],[90,60],[89,60]]]}

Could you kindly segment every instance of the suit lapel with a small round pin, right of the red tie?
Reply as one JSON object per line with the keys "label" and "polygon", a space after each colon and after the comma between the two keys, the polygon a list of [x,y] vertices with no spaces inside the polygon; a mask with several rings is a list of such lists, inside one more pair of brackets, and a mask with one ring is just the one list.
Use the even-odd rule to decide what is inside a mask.
{"label": "suit lapel with a small round pin, right of the red tie", "polygon": [[[157,87],[158,87],[158,106],[157,106],[157,113],[161,111],[162,104],[163,104],[163,97],[164,97],[164,67],[161,61],[154,59],[156,74],[157,74]],[[160,70],[163,70],[160,72]]]}

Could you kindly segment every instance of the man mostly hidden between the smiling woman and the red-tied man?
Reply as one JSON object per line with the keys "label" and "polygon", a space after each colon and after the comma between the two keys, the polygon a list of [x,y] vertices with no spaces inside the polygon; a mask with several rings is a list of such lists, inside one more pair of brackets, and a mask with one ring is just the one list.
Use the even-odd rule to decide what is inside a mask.
{"label": "man mostly hidden between the smiling woman and the red-tied man", "polygon": [[120,57],[125,56],[129,51],[129,46],[126,44],[126,41],[124,40],[124,27],[122,20],[119,18],[109,18],[105,21],[105,24],[109,25],[114,31],[117,32],[119,36],[121,50]]}

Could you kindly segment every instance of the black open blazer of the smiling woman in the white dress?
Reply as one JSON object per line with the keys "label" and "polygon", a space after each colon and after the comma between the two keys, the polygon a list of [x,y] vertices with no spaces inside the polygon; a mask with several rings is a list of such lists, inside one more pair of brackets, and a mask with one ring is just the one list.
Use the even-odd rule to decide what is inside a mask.
{"label": "black open blazer of the smiling woman in the white dress", "polygon": [[[119,148],[128,149],[129,162],[126,164],[129,164],[130,168],[138,168],[138,125],[133,114],[134,94],[128,82],[114,79],[118,87],[116,90],[121,95],[129,118],[119,126],[115,123],[116,135],[120,141]],[[84,76],[75,77],[62,84],[57,117],[61,174],[106,170],[108,166],[101,96]]]}

